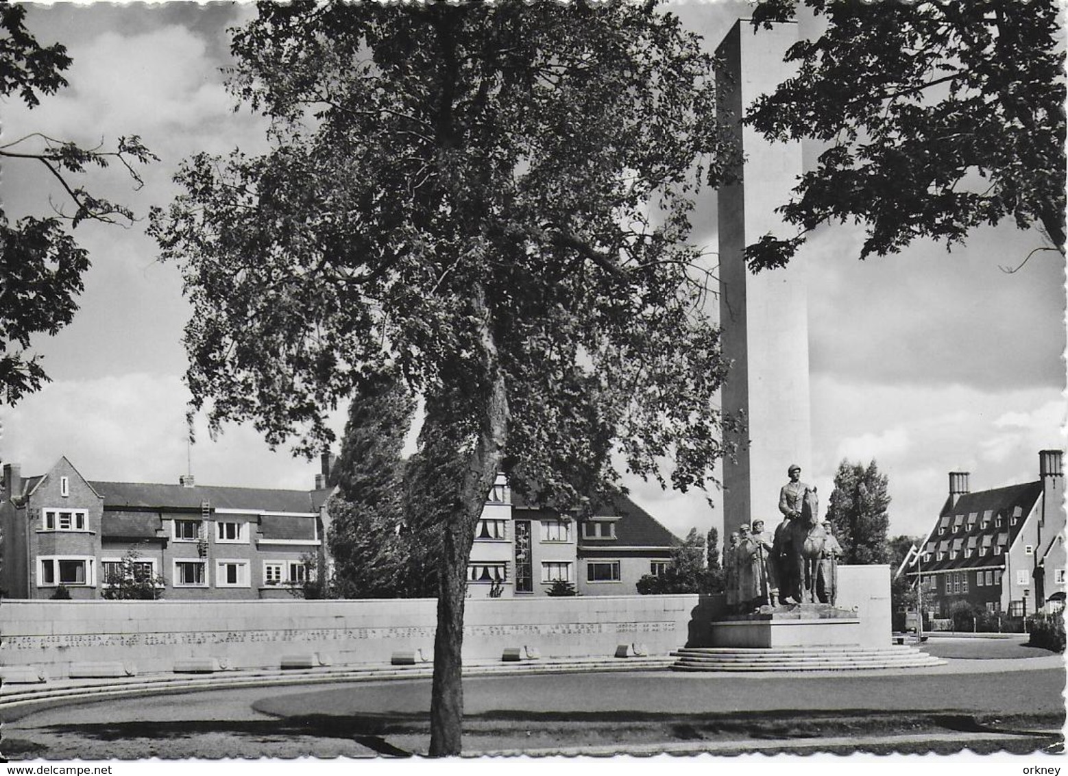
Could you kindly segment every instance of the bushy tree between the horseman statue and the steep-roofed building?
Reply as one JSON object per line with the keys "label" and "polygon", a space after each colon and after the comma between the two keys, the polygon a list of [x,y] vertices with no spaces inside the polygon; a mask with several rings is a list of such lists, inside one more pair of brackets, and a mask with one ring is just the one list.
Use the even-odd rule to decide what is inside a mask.
{"label": "bushy tree between the horseman statue and the steep-roofed building", "polygon": [[[842,544],[846,564],[889,564],[886,529],[890,527],[889,480],[879,474],[875,460],[862,463],[842,461],[834,475],[827,518]],[[900,561],[898,561],[900,563]]]}

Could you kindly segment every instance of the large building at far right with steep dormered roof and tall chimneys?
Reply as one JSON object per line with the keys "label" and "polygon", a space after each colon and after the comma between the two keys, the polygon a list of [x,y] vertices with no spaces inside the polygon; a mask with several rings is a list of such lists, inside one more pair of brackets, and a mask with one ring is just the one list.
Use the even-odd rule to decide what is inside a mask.
{"label": "large building at far right with steep dormered roof and tall chimneys", "polygon": [[947,617],[957,601],[1011,617],[1064,606],[1062,452],[1038,460],[1037,481],[992,490],[971,492],[969,473],[949,473],[945,505],[906,564],[925,612]]}

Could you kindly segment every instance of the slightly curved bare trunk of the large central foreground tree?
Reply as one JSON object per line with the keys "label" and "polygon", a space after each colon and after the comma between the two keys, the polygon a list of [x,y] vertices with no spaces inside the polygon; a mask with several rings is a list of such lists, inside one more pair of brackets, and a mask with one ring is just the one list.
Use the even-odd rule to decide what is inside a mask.
{"label": "slightly curved bare trunk of the large central foreground tree", "polygon": [[508,432],[508,401],[504,375],[498,364],[491,315],[481,285],[472,289],[472,306],[485,359],[487,395],[483,399],[481,430],[470,452],[460,487],[459,509],[447,518],[440,558],[438,629],[434,637],[434,684],[430,697],[430,757],[460,754],[464,722],[461,650],[468,561],[475,526],[504,458]]}

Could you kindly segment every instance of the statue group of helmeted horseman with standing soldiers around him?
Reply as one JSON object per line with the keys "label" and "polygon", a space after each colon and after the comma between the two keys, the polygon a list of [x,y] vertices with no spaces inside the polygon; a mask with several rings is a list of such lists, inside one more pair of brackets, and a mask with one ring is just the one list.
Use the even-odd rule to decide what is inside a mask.
{"label": "statue group of helmeted horseman with standing soldiers around him", "polygon": [[828,521],[819,521],[816,489],[801,481],[801,468],[787,471],[779,494],[783,522],[774,534],[763,520],[731,534],[723,550],[727,607],[749,614],[760,606],[830,603],[837,596],[837,558],[842,547]]}

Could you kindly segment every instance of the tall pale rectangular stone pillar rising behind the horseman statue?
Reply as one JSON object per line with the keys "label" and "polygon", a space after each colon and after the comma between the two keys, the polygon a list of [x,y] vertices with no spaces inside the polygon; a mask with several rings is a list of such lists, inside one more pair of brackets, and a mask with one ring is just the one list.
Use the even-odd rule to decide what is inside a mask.
{"label": "tall pale rectangular stone pillar rising behind the horseman statue", "polygon": [[[803,263],[753,274],[742,251],[769,232],[788,237],[774,208],[787,202],[801,174],[801,144],[769,143],[740,117],[753,100],[791,75],[783,63],[798,39],[797,25],[774,25],[754,34],[735,23],[720,44],[720,118],[735,127],[744,154],[738,183],[719,192],[720,326],[723,350],[734,364],[722,392],[723,411],[744,413],[749,445],[723,466],[723,533],[761,518],[779,524],[779,490],[791,463],[811,475],[808,311]],[[742,441],[744,441],[744,439]]]}

